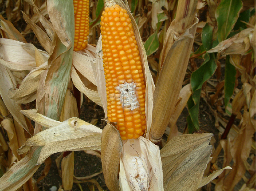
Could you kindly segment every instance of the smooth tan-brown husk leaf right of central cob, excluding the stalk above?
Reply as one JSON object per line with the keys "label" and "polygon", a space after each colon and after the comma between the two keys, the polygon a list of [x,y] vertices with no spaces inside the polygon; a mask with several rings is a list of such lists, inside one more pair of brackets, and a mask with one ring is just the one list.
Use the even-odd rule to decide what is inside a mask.
{"label": "smooth tan-brown husk leaf right of central cob, excluding the stalk above", "polygon": [[149,140],[153,143],[161,140],[178,100],[194,42],[197,22],[198,20],[195,19],[194,24],[174,42],[160,71],[154,92],[152,126],[149,136]]}

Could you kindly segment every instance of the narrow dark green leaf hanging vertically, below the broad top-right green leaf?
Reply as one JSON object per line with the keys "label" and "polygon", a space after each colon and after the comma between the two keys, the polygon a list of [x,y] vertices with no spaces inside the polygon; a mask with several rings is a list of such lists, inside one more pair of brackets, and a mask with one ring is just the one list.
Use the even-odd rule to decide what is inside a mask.
{"label": "narrow dark green leaf hanging vertically, below the broad top-right green leaf", "polygon": [[224,83],[224,92],[225,92],[225,108],[228,106],[231,96],[233,95],[235,89],[236,81],[236,68],[229,62],[229,56],[226,57],[226,66],[225,66],[225,83]]}

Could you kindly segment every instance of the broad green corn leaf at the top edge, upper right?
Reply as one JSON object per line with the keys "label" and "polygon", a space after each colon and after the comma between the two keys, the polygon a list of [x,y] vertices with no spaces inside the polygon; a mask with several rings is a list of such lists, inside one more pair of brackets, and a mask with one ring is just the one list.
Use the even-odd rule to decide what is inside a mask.
{"label": "broad green corn leaf at the top edge, upper right", "polygon": [[216,20],[218,23],[218,40],[224,41],[233,29],[242,9],[241,0],[222,0],[216,9]]}

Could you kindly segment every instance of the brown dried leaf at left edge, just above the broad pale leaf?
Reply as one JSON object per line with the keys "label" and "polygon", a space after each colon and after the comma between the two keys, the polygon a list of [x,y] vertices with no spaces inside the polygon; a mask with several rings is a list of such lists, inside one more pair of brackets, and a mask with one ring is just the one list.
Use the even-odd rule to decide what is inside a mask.
{"label": "brown dried leaf at left edge, just above the broad pale leaf", "polygon": [[13,26],[10,21],[5,20],[2,15],[0,15],[0,29],[2,38],[27,43],[24,36],[21,35],[21,33]]}

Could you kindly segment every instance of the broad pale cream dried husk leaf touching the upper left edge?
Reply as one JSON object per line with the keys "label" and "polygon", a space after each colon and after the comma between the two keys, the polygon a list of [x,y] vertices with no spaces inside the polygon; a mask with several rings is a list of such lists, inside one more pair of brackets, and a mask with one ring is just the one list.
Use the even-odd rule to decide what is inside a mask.
{"label": "broad pale cream dried husk leaf touching the upper left edge", "polygon": [[23,42],[11,39],[0,39],[0,63],[14,71],[31,70],[36,67],[32,57],[22,47]]}

